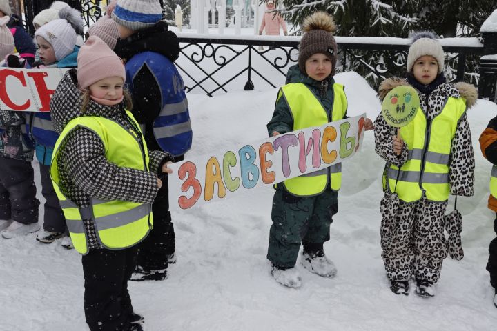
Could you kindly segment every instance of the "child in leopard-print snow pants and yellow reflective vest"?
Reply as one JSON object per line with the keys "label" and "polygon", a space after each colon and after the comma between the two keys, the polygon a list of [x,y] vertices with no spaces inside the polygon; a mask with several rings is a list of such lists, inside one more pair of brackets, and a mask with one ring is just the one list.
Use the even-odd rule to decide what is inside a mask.
{"label": "child in leopard-print snow pants and yellow reflective vest", "polygon": [[[466,110],[476,101],[476,89],[447,83],[444,52],[433,34],[414,35],[407,56],[407,81],[385,79],[380,99],[396,86],[418,90],[420,108],[407,126],[389,126],[380,114],[375,121],[376,152],[387,161],[384,170],[382,258],[390,289],[433,297],[442,261],[447,257],[444,214],[449,194],[473,195],[474,153]],[[400,168],[400,173],[399,173]],[[396,201],[396,193],[398,203]]]}

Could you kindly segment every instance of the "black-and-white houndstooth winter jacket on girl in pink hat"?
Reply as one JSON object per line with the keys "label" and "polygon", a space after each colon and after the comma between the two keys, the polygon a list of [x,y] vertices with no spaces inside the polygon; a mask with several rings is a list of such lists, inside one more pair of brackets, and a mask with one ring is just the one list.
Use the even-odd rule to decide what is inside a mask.
{"label": "black-and-white houndstooth winter jacket on girl in pink hat", "polygon": [[[141,137],[139,128],[126,115],[124,103],[103,106],[91,100],[82,114],[81,91],[77,85],[76,72],[76,69],[66,72],[50,101],[57,134],[75,117],[88,115],[112,119],[130,132],[135,132],[137,137]],[[59,155],[59,187],[79,208],[88,207],[91,198],[153,203],[158,191],[155,174],[159,167],[170,161],[170,155],[165,152],[149,151],[150,172],[119,168],[107,161],[103,143],[97,134],[86,128],[70,132],[61,145]],[[89,247],[101,248],[93,221],[85,220],[84,224]]]}

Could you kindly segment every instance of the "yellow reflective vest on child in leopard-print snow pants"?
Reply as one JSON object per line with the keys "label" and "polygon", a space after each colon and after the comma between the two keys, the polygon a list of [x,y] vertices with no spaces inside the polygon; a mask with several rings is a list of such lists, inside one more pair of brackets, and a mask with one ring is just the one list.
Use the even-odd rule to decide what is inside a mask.
{"label": "yellow reflective vest on child in leopard-print snow pants", "polygon": [[389,189],[396,192],[399,199],[418,201],[423,191],[430,201],[449,198],[451,144],[465,111],[465,99],[448,97],[431,123],[427,124],[425,113],[419,108],[413,121],[400,129],[402,140],[409,148],[407,161],[400,172],[396,165],[389,165],[386,173]]}

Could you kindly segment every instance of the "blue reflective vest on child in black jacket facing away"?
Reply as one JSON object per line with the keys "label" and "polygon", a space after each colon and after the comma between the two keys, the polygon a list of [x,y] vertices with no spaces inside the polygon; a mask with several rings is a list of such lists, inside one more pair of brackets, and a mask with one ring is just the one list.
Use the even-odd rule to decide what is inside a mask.
{"label": "blue reflective vest on child in black jacket facing away", "polygon": [[[184,83],[175,65],[164,55],[142,52],[126,62],[126,83],[133,91],[133,78],[148,66],[161,91],[161,111],[153,121],[153,134],[165,152],[178,156],[191,147],[192,130]],[[141,123],[144,124],[144,123]]]}

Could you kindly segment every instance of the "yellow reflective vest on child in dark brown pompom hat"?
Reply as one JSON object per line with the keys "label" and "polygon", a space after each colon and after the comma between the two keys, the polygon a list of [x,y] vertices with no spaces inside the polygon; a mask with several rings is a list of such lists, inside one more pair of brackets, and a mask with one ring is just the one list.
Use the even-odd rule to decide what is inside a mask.
{"label": "yellow reflective vest on child in dark brown pompom hat", "polygon": [[[333,84],[333,109],[328,118],[324,106],[318,98],[303,83],[290,83],[280,88],[278,98],[284,97],[293,117],[293,130],[300,130],[312,126],[322,126],[330,121],[340,121],[347,112],[347,97],[344,86]],[[328,178],[330,179],[328,181]],[[332,190],[340,190],[342,185],[342,163],[331,165],[328,168],[304,174],[284,181],[288,192],[299,197],[310,197],[324,192],[327,183]]]}

